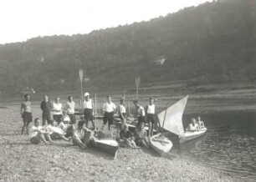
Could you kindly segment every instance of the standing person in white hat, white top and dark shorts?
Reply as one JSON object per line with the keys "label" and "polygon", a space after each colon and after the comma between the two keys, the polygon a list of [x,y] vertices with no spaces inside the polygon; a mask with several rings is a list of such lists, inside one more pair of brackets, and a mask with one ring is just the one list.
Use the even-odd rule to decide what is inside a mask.
{"label": "standing person in white hat, white top and dark shorts", "polygon": [[84,93],[83,108],[85,127],[88,128],[88,122],[90,121],[93,125],[93,129],[95,129],[95,122],[93,120],[94,102],[92,99],[90,99],[89,93]]}

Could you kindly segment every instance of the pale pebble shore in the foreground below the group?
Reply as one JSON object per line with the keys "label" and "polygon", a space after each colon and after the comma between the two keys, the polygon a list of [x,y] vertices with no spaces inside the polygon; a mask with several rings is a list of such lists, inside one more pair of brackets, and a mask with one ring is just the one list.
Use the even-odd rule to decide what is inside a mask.
{"label": "pale pebble shore in the foreground below the group", "polygon": [[121,148],[114,160],[71,142],[29,144],[28,135],[20,134],[18,106],[0,109],[0,116],[0,181],[242,181],[177,154],[167,159],[151,150]]}

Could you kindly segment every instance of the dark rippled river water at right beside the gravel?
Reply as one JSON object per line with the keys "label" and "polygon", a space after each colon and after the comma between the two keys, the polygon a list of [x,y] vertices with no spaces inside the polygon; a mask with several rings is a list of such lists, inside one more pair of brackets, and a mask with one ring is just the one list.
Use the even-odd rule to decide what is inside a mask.
{"label": "dark rippled river water at right beside the gravel", "polygon": [[[183,120],[191,117],[195,116],[185,115]],[[182,144],[181,155],[256,180],[256,113],[218,113],[201,117],[208,127],[229,125],[230,129],[209,130],[202,138]],[[187,124],[185,122],[184,126]]]}

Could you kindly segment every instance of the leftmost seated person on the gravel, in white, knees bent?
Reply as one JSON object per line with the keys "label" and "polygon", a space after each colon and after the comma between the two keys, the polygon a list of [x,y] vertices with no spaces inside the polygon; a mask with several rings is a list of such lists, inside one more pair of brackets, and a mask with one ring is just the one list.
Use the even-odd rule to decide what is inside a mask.
{"label": "leftmost seated person on the gravel, in white, knees bent", "polygon": [[51,139],[49,132],[41,126],[39,118],[34,119],[34,125],[30,129],[30,142],[31,144],[39,144],[42,140],[44,144],[54,143]]}

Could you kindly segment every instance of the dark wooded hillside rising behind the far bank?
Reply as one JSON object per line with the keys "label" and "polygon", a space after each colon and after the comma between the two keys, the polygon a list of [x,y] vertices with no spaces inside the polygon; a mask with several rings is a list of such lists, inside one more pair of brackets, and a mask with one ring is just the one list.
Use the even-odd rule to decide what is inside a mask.
{"label": "dark wooded hillside rising behind the far bank", "polygon": [[[224,0],[164,18],[74,36],[0,45],[0,92],[24,86],[73,88],[84,68],[96,86],[193,79],[195,83],[254,81],[256,3]],[[162,65],[154,63],[165,55]]]}

